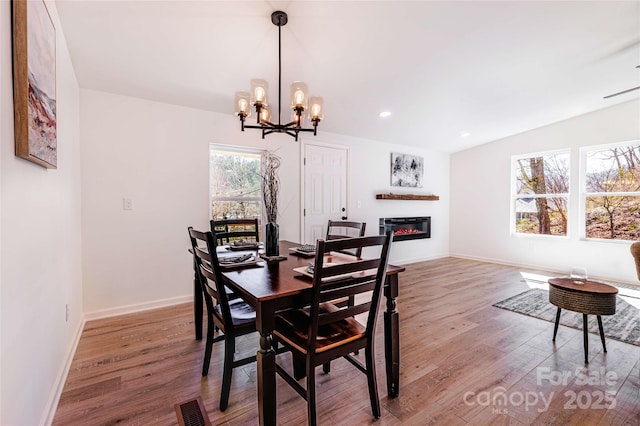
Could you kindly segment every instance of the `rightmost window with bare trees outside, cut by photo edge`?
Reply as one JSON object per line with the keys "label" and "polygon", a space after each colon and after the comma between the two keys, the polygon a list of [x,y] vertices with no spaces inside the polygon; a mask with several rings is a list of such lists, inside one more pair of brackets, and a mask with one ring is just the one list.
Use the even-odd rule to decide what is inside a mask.
{"label": "rightmost window with bare trees outside, cut by photo edge", "polygon": [[640,141],[582,150],[584,236],[640,238]]}

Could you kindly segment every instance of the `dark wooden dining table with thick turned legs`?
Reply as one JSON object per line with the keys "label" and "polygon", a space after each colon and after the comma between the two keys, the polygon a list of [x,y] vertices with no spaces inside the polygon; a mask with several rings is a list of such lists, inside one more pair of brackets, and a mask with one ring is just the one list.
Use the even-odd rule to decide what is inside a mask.
{"label": "dark wooden dining table with thick turned legs", "polygon": [[[260,348],[256,354],[258,379],[258,411],[261,425],[276,425],[276,355],[272,348],[272,332],[275,313],[282,309],[301,307],[311,300],[311,280],[301,276],[294,268],[306,267],[312,258],[290,254],[289,249],[299,246],[289,241],[280,242],[280,254],[286,260],[262,262],[253,267],[229,268],[223,271],[225,285],[244,299],[256,311],[256,329],[260,333]],[[255,250],[254,250],[255,252]],[[348,261],[348,255],[336,255]],[[383,294],[386,299],[384,311],[385,370],[387,394],[391,398],[399,395],[400,342],[399,316],[396,310],[398,297],[398,274],[404,267],[388,265]],[[197,274],[197,272],[196,272]],[[194,315],[196,339],[202,338],[202,288],[197,275],[194,279]]]}

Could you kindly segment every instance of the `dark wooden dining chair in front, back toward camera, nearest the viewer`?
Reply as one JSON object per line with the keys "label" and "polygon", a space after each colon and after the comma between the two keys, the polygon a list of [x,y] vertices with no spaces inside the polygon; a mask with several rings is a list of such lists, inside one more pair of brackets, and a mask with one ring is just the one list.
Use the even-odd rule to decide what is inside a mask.
{"label": "dark wooden dining chair in front, back toward camera, nearest the viewer", "polygon": [[[332,241],[318,240],[313,264],[313,293],[309,306],[279,312],[275,317],[275,340],[292,353],[294,376],[276,363],[277,373],[307,401],[309,425],[316,424],[315,369],[344,357],[367,376],[373,417],[380,418],[376,383],[374,338],[382,284],[389,259],[391,232],[386,235]],[[350,263],[325,263],[324,255],[346,249],[375,247],[380,255]],[[375,274],[372,272],[375,271]],[[371,292],[370,298],[354,306],[338,307],[329,301]],[[362,324],[356,315],[366,314]],[[364,349],[365,363],[352,353]],[[297,379],[296,365],[304,365],[306,388]],[[327,371],[325,371],[326,373]],[[339,379],[338,379],[339,380]]]}

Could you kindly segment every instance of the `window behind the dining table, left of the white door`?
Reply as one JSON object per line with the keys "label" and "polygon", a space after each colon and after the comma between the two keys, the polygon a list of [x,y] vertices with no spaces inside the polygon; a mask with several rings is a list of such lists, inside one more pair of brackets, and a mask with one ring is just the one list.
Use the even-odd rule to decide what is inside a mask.
{"label": "window behind the dining table, left of the white door", "polygon": [[260,153],[212,145],[209,157],[211,218],[260,218]]}

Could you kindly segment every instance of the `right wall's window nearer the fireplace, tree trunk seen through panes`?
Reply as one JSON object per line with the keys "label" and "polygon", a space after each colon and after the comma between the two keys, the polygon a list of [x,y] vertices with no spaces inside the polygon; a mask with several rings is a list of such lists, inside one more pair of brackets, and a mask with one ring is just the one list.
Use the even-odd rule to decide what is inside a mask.
{"label": "right wall's window nearer the fireplace, tree trunk seen through panes", "polygon": [[567,235],[569,152],[514,157],[512,167],[512,229]]}

